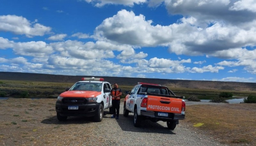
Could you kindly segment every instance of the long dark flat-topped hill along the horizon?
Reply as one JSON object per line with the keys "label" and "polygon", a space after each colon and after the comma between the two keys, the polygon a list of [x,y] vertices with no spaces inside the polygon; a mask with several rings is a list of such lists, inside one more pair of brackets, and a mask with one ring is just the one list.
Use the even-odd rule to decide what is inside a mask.
{"label": "long dark flat-topped hill along the horizon", "polygon": [[[92,76],[70,76],[41,73],[17,73],[0,72],[0,80],[17,81],[45,81],[45,82],[68,82],[75,83],[83,77]],[[99,76],[94,76],[95,78]],[[138,82],[156,83],[171,88],[193,88],[193,89],[215,89],[215,90],[236,90],[236,91],[256,91],[256,83],[245,82],[221,82],[221,81],[193,81],[193,80],[171,80],[171,79],[150,79],[150,78],[128,78],[128,77],[106,77],[105,81],[111,84],[134,86]]]}

